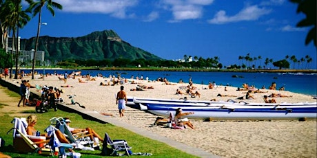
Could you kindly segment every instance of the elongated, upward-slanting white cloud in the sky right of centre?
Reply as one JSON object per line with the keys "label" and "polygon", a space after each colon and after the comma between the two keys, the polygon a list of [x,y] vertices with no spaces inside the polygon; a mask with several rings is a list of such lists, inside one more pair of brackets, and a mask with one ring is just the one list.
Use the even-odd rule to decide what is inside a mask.
{"label": "elongated, upward-slanting white cloud in the sky right of centre", "polygon": [[251,5],[243,8],[238,14],[234,16],[227,16],[224,10],[217,12],[214,19],[210,19],[209,23],[223,24],[232,23],[238,21],[255,21],[265,14],[269,14],[271,10],[265,8],[259,8],[258,5]]}

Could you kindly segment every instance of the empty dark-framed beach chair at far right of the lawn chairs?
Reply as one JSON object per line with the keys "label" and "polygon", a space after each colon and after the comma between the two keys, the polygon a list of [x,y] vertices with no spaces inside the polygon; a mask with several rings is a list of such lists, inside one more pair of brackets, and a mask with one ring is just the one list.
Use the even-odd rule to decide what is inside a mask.
{"label": "empty dark-framed beach chair at far right of the lawn chairs", "polygon": [[[127,155],[130,157],[132,154],[132,151],[130,150],[132,147],[130,147],[125,140],[113,140],[110,139],[110,136],[108,133],[105,133],[105,138],[103,142],[103,149],[101,155],[110,155],[110,156],[121,156],[121,155]],[[110,148],[108,148],[108,145]],[[107,153],[107,151],[111,149],[110,153]],[[119,154],[119,152],[125,152],[124,154]]]}

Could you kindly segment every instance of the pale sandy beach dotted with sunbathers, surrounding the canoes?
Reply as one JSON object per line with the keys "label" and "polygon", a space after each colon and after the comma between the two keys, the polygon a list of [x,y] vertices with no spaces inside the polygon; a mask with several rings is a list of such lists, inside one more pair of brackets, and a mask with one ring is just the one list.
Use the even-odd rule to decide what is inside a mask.
{"label": "pale sandy beach dotted with sunbathers, surrounding the canoes", "polygon": [[[37,76],[39,77],[39,76]],[[60,76],[63,78],[63,76]],[[79,77],[81,78],[81,77]],[[220,157],[316,157],[317,155],[317,124],[316,120],[300,122],[298,120],[272,120],[272,121],[211,121],[191,120],[196,129],[186,128],[184,130],[174,130],[163,126],[152,126],[156,115],[146,113],[127,107],[124,117],[119,117],[116,105],[115,94],[120,90],[120,85],[101,86],[100,83],[107,83],[110,78],[93,77],[95,80],[79,82],[78,78],[68,78],[67,82],[59,80],[58,76],[46,76],[45,80],[30,80],[31,85],[47,85],[63,89],[61,97],[66,103],[70,100],[66,95],[75,94],[74,100],[99,113],[109,113],[118,120],[127,122],[134,126],[144,128],[162,137],[174,139],[190,146],[202,148],[203,150],[218,155]],[[168,78],[167,78],[168,79]],[[19,85],[21,80],[10,80],[8,82]],[[143,98],[165,98],[179,99],[188,98],[189,95],[176,95],[176,89],[187,86],[187,83],[166,85],[164,82],[154,82],[147,80],[134,80],[137,84],[152,86],[154,89],[145,91],[130,91],[136,89],[137,84],[130,82],[123,84],[128,96]],[[242,85],[243,83],[241,83]],[[69,85],[72,87],[61,87]],[[236,100],[245,95],[246,91],[236,91],[237,87],[218,86],[216,89],[204,89],[207,85],[194,84],[197,91],[201,93],[201,98],[191,98],[192,100]],[[33,88],[32,91],[37,89]],[[292,93],[289,91],[275,91],[260,89],[265,93],[253,93],[255,99],[252,102],[264,102],[263,95],[271,93],[281,93],[292,97],[274,98],[276,102],[316,102],[309,95]],[[218,93],[223,95],[235,95],[236,97],[217,97]],[[17,100],[18,102],[19,100]],[[237,100],[238,101],[238,100]],[[249,101],[249,100],[248,100]],[[72,106],[72,105],[70,105]],[[109,117],[109,116],[105,116]]]}

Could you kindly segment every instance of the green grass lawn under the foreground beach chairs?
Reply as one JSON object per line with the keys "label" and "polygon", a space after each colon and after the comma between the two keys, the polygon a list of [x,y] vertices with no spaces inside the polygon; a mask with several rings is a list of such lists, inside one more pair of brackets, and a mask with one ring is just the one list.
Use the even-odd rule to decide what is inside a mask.
{"label": "green grass lawn under the foreground beach chairs", "polygon": [[[10,96],[15,97],[14,94],[10,94]],[[6,104],[0,104],[0,111],[4,106],[6,106]],[[28,153],[16,153],[12,146],[12,131],[10,131],[10,133],[7,135],[7,132],[13,127],[11,121],[14,119],[14,116],[11,115],[15,115],[15,117],[21,117],[21,115],[23,115],[23,117],[27,117],[31,113],[35,113],[35,108],[34,111],[23,111],[22,114],[3,113],[0,115],[0,137],[6,141],[5,146],[0,148],[1,152],[5,153],[6,155],[10,155],[11,157],[48,157],[45,155],[39,155],[37,153],[32,155],[28,155]],[[81,115],[76,113],[68,113],[61,110],[54,112],[52,109],[50,109],[48,113],[36,113],[35,115],[38,117],[38,122],[35,128],[37,128],[37,130],[39,130],[41,133],[44,133],[44,129],[50,125],[50,118],[70,117],[70,120],[72,120],[72,127],[74,128],[85,128],[89,126],[90,128],[93,128],[96,133],[99,133],[101,137],[103,137],[104,133],[106,132],[110,135],[111,139],[125,139],[129,146],[132,147],[133,153],[152,153],[151,157],[194,157],[193,155],[184,153],[181,150],[172,148],[167,144],[143,137],[142,135],[137,135],[131,131],[127,131],[125,128],[117,127],[112,124],[101,124],[99,122],[85,120],[83,117],[81,117]],[[81,157],[104,157],[99,155],[101,150],[76,150],[76,152],[81,153]],[[143,156],[134,155],[132,157]]]}

